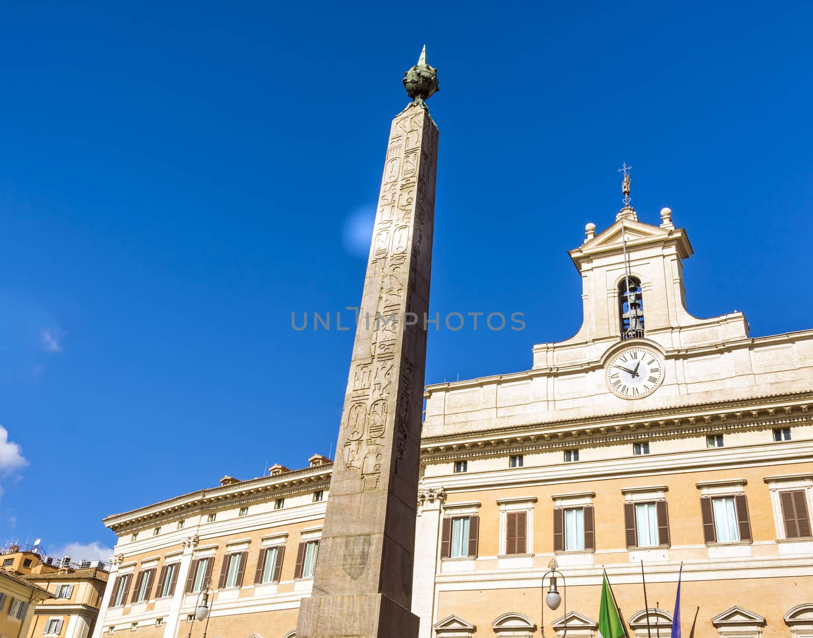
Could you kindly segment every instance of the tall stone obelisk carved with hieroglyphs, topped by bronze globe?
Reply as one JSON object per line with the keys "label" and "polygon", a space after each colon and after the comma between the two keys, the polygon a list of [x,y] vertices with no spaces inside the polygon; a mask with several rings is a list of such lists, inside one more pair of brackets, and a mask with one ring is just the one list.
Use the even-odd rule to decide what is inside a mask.
{"label": "tall stone obelisk carved with hieroglyphs, topped by bronze globe", "polygon": [[364,278],[311,597],[297,638],[411,638],[426,323],[437,167],[437,90],[426,47],[403,79]]}

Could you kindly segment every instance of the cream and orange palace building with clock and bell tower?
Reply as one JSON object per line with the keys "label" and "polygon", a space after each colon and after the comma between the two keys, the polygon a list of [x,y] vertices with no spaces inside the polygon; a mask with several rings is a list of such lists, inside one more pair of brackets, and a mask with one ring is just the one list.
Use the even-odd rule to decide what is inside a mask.
{"label": "cream and orange palace building with clock and bell tower", "polygon": [[[669,636],[680,572],[685,636],[810,638],[813,330],[751,338],[741,312],[689,314],[692,247],[667,208],[650,225],[627,202],[569,254],[572,339],[426,388],[421,638],[594,638],[602,570],[630,636]],[[93,638],[293,636],[331,472],[315,455],[106,518],[119,540]]]}

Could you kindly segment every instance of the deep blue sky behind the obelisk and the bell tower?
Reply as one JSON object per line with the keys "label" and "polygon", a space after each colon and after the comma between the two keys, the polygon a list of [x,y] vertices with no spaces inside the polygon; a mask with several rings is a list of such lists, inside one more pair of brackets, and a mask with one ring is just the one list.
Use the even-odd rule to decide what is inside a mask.
{"label": "deep blue sky behind the obelisk and the bell tower", "polygon": [[107,514],[328,452],[353,333],[291,312],[360,299],[424,42],[432,312],[526,323],[430,333],[427,382],[576,332],[622,162],[688,231],[689,312],[811,327],[809,5],[70,4],[0,7],[0,544],[104,557]]}

